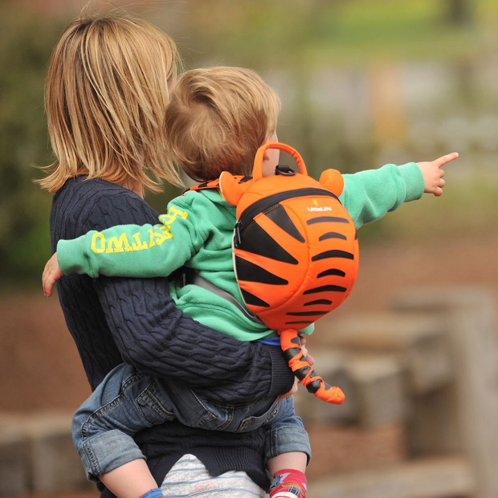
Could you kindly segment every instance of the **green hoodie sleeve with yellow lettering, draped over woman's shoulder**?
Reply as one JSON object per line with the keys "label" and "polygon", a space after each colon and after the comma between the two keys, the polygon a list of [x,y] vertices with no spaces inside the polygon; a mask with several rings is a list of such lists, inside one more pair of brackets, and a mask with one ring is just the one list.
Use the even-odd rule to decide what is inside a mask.
{"label": "green hoodie sleeve with yellow lettering, draped over woman's shoulder", "polygon": [[[198,196],[200,197],[200,196]],[[96,278],[167,277],[202,245],[206,234],[190,202],[177,198],[156,225],[116,225],[60,240],[57,258],[65,274]]]}

